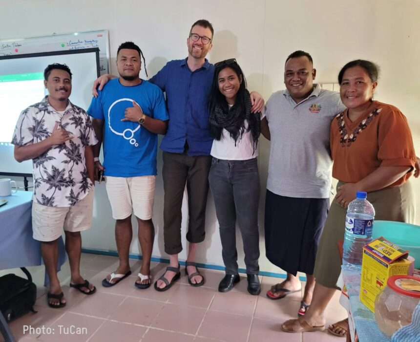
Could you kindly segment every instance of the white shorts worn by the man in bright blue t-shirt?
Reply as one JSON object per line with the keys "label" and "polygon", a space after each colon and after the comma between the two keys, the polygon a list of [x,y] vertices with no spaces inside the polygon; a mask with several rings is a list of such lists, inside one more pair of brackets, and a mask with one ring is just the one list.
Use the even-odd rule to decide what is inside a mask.
{"label": "white shorts worn by the man in bright blue t-shirt", "polygon": [[156,176],[106,176],[105,184],[114,219],[122,220],[132,213],[141,220],[152,218]]}

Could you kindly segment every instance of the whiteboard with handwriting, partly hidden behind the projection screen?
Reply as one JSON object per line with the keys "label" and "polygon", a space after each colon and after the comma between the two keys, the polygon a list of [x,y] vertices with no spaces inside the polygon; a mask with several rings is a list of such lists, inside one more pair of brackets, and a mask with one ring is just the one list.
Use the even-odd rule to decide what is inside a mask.
{"label": "whiteboard with handwriting, partly hidden behind the projection screen", "polygon": [[108,30],[53,34],[52,36],[0,40],[0,56],[36,52],[79,50],[99,48],[100,74],[109,74]]}

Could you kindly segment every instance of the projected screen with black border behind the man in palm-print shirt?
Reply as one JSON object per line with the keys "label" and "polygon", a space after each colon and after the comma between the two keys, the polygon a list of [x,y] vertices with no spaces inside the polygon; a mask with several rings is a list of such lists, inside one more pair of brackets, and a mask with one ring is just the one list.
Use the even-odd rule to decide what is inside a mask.
{"label": "projected screen with black border behind the man in palm-print shirt", "polygon": [[0,57],[0,173],[32,174],[32,161],[18,163],[10,142],[21,111],[48,95],[43,71],[53,63],[68,65],[73,74],[70,101],[89,107],[92,84],[99,76],[98,48]]}

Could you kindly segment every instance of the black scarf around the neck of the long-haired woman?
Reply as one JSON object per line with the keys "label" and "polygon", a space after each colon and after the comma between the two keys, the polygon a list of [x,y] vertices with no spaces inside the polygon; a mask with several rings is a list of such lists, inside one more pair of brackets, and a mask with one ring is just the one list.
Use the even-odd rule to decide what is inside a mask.
{"label": "black scarf around the neck of the long-haired woman", "polygon": [[[229,108],[227,102],[217,104],[210,111],[210,130],[216,140],[220,140],[222,129],[225,128],[235,140],[235,146],[242,138],[244,131],[251,131],[253,149],[256,149],[258,137],[261,132],[260,113],[251,113],[251,99],[248,90],[242,93],[242,101],[236,99],[235,104]],[[248,129],[245,128],[245,120],[248,121]]]}

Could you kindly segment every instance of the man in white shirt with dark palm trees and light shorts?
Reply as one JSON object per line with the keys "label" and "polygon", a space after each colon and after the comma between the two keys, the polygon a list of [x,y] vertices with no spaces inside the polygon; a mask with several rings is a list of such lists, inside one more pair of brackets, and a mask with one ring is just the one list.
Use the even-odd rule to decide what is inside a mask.
{"label": "man in white shirt with dark palm trees and light shorts", "polygon": [[41,241],[50,278],[48,305],[66,302],[57,277],[58,238],[65,232],[71,270],[70,286],[86,295],[96,288],[80,275],[81,231],[89,229],[93,208],[93,152],[97,143],[90,117],[69,100],[71,72],[67,65],[44,70],[49,95],[21,112],[12,144],[18,162],[33,160],[33,237]]}

